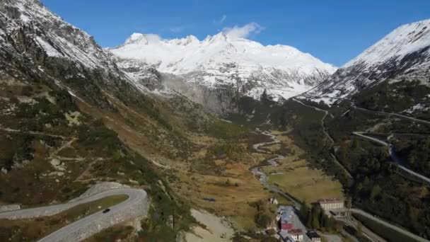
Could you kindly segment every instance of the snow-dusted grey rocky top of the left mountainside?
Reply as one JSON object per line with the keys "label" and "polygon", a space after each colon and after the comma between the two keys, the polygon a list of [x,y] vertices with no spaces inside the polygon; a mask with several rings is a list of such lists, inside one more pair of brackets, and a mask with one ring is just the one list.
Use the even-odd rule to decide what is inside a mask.
{"label": "snow-dusted grey rocky top of the left mountainside", "polygon": [[47,57],[69,59],[90,69],[108,70],[116,67],[90,35],[64,22],[39,1],[1,1],[0,21],[2,47],[16,42],[8,39],[25,35],[35,47],[44,50]]}

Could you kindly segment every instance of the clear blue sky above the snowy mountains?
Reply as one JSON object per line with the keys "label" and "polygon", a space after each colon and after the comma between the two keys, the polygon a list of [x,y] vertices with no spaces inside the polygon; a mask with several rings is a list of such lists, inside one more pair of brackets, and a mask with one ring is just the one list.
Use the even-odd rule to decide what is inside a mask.
{"label": "clear blue sky above the snowy mountains", "polygon": [[[429,0],[42,0],[103,47],[132,33],[199,40],[226,28],[341,66],[398,25],[430,18]],[[250,24],[252,23],[252,24]],[[235,28],[235,26],[237,28]],[[247,28],[242,28],[243,26]]]}

